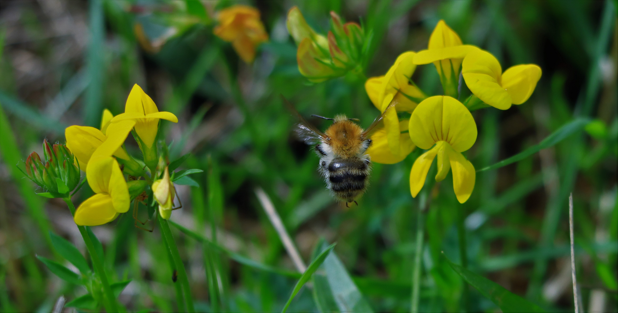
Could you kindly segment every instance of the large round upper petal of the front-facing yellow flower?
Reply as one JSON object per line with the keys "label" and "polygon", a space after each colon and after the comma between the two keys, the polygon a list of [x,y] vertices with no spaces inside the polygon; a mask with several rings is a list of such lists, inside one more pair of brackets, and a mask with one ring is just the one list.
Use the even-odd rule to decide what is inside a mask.
{"label": "large round upper petal of the front-facing yellow flower", "polygon": [[410,138],[421,149],[446,141],[457,152],[476,141],[476,123],[464,104],[449,96],[433,96],[418,104],[410,117]]}

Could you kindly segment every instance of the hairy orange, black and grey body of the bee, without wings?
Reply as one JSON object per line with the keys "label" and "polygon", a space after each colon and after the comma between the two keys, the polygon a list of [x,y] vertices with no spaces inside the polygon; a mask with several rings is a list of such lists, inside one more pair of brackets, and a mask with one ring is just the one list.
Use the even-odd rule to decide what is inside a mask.
{"label": "hairy orange, black and grey body of the bee, without wings", "polygon": [[344,115],[335,117],[334,123],[315,146],[320,157],[318,169],[324,177],[326,188],[341,201],[353,202],[367,187],[371,174],[371,158],[365,154],[371,140],[363,130]]}

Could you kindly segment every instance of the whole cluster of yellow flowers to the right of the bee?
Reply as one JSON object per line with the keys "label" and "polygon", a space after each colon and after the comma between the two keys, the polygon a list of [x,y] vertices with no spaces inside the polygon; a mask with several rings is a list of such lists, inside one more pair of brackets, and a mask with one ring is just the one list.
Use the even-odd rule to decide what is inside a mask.
{"label": "whole cluster of yellow flowers to the right of the bee", "polygon": [[[438,71],[444,96],[427,98],[412,81],[416,66],[430,63]],[[477,131],[472,114],[456,99],[460,72],[472,91],[470,98],[502,110],[527,101],[541,78],[541,68],[535,64],[515,65],[502,72],[496,57],[476,46],[463,44],[459,35],[440,20],[426,50],[404,52],[386,75],[371,77],[365,83],[371,102],[383,112],[384,120],[384,127],[371,136],[373,144],[367,153],[372,161],[393,164],[405,159],[416,146],[429,150],[412,166],[410,193],[413,197],[423,188],[436,156],[436,182],[452,170],[453,188],[459,202],[467,201],[474,189],[475,169],[462,152],[472,148]],[[411,115],[409,119],[399,119],[397,112]]]}

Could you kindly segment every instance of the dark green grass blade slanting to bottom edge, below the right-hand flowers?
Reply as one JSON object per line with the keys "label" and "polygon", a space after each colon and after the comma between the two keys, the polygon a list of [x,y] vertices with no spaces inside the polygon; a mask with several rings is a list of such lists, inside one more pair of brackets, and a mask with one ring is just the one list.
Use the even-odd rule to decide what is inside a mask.
{"label": "dark green grass blade slanting to bottom edge, below the right-hand flowers", "polygon": [[[444,252],[442,252],[444,253]],[[442,254],[444,255],[444,254]],[[454,264],[449,259],[444,257],[446,261],[451,265],[466,282],[472,285],[476,290],[480,291],[483,296],[486,296],[489,300],[500,307],[502,312],[545,312],[540,306],[531,303],[527,299],[524,299],[517,294],[514,294],[497,283],[488,280],[477,273],[464,269],[460,265]]]}

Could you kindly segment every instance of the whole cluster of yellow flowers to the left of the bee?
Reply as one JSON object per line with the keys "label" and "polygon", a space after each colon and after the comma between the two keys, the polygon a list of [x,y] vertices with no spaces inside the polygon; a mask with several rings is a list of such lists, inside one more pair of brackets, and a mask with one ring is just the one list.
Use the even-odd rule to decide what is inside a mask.
{"label": "whole cluster of yellow flowers to the left of the bee", "polygon": [[[142,149],[146,165],[154,162],[156,166],[156,159],[151,160],[148,157],[156,158],[156,151],[154,156],[152,151],[156,150],[155,139],[160,119],[178,122],[176,115],[159,112],[155,102],[140,86],[134,85],[127,98],[125,112],[113,117],[111,112],[104,111],[100,130],[77,125],[67,127],[65,131],[67,147],[74,153],[80,168],[85,169],[88,185],[95,192],[94,196],[77,207],[74,216],[77,225],[95,226],[108,223],[116,219],[118,214],[129,210],[131,198],[141,193],[148,182],[125,181],[123,172],[135,177],[147,177],[147,175],[142,165],[133,160],[122,145],[129,133],[135,130],[136,140]],[[150,165],[148,167],[151,171],[155,169]],[[167,168],[165,171],[169,182]],[[168,187],[169,184],[171,182],[168,183]],[[161,198],[164,191],[154,187],[154,193],[158,194],[155,198]],[[171,189],[173,190],[173,185]],[[169,193],[169,188],[167,190]],[[171,199],[173,201],[173,191]],[[166,216],[169,219],[169,214]]]}

